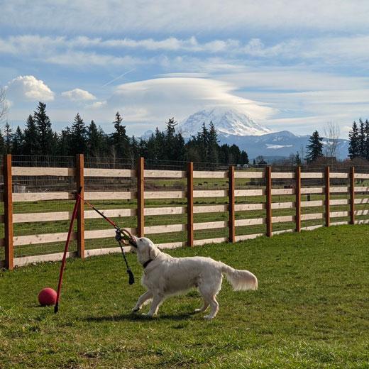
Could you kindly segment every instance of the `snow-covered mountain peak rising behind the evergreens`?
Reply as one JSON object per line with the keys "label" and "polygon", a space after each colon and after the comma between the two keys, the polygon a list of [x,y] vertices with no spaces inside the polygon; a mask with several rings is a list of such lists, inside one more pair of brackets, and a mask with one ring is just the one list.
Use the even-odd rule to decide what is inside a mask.
{"label": "snow-covered mountain peak rising behind the evergreens", "polygon": [[197,132],[201,131],[202,123],[205,122],[208,126],[211,121],[222,136],[261,136],[272,132],[253,121],[247,114],[224,107],[197,111],[180,124],[178,131],[182,132],[185,138],[196,136]]}

